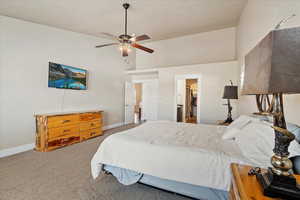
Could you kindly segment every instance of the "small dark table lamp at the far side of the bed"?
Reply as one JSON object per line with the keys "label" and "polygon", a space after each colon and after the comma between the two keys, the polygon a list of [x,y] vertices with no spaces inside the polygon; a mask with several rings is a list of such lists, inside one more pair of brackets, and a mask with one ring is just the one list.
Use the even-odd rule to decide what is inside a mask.
{"label": "small dark table lamp at the far side of the bed", "polygon": [[227,104],[224,104],[226,106],[228,106],[228,114],[227,114],[227,119],[222,123],[222,124],[230,124],[231,122],[233,122],[232,119],[232,106],[230,104],[230,99],[238,99],[238,92],[237,86],[234,86],[232,81],[230,80],[231,85],[226,85],[224,87],[224,94],[223,94],[223,99],[227,99]]}

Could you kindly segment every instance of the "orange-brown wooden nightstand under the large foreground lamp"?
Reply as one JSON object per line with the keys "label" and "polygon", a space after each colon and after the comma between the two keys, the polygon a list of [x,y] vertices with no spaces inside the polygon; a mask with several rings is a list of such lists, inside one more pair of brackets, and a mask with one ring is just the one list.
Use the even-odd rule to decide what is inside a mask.
{"label": "orange-brown wooden nightstand under the large foreground lamp", "polygon": [[[232,181],[229,192],[230,200],[280,200],[266,197],[255,176],[249,176],[251,166],[231,164]],[[266,170],[262,170],[266,171]],[[300,175],[295,176],[300,183]]]}

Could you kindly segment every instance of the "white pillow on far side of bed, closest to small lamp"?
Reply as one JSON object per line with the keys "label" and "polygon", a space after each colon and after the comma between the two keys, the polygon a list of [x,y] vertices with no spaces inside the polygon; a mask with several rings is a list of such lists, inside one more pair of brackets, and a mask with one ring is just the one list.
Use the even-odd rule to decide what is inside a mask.
{"label": "white pillow on far side of bed, closest to small lamp", "polygon": [[230,140],[234,139],[236,135],[240,133],[240,131],[249,123],[252,121],[259,121],[259,119],[247,116],[247,115],[241,115],[239,118],[234,120],[226,129],[224,132],[222,139],[223,140]]}

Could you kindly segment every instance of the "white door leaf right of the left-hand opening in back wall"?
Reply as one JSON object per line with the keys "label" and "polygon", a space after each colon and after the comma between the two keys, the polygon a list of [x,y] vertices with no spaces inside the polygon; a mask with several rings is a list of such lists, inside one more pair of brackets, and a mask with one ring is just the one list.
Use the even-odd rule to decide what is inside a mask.
{"label": "white door leaf right of the left-hand opening in back wall", "polygon": [[158,80],[143,82],[142,120],[157,120]]}

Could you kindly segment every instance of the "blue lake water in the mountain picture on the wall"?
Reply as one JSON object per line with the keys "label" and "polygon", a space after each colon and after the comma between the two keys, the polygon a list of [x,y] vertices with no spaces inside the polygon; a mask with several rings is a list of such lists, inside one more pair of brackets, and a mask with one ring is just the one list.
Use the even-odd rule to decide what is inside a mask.
{"label": "blue lake water in the mountain picture on the wall", "polygon": [[73,80],[72,78],[64,78],[59,80],[53,80],[48,82],[49,87],[55,88],[71,88],[71,89],[78,89],[78,90],[85,90],[86,87],[82,83]]}

